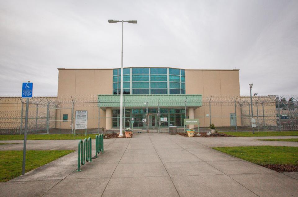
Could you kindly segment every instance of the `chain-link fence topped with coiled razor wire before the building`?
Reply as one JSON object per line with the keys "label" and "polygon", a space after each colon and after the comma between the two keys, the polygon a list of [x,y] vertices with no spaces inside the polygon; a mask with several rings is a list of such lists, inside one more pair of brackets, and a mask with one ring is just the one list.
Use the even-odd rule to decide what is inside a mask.
{"label": "chain-link fence topped with coiled razor wire before the building", "polygon": [[[177,126],[178,132],[183,132],[184,119],[194,118],[199,119],[199,125],[193,127],[200,132],[209,131],[211,123],[215,124],[219,132],[253,129],[298,130],[297,100],[298,95],[253,96],[251,105],[250,96],[202,96],[202,101],[198,101],[201,106],[194,109],[194,115],[191,117],[188,114],[188,107],[165,108],[154,101],[156,107],[147,105],[151,107],[125,109],[124,103],[123,128],[133,128],[134,132],[168,132],[169,126],[174,125]],[[25,109],[24,98],[1,96],[0,134],[24,133]],[[119,108],[113,108],[111,111],[102,109],[99,107],[97,95],[92,95],[30,98],[28,133],[74,133],[76,110],[88,111],[87,133],[119,132]],[[252,128],[252,116],[255,119],[255,128]],[[75,133],[83,132],[86,131],[75,131]]]}

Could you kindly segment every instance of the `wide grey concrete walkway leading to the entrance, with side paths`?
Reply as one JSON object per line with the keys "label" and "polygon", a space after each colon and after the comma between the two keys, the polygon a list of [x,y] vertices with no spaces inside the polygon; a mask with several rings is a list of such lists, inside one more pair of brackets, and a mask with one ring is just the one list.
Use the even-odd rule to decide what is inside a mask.
{"label": "wide grey concrete walkway leading to the entrance, with side paths", "polygon": [[[261,138],[272,137],[257,137]],[[29,149],[41,149],[46,143],[53,150],[76,149],[78,140],[28,142]],[[82,166],[82,172],[75,172],[75,151],[0,183],[0,196],[297,196],[297,173],[278,173],[209,148],[263,142],[159,133],[105,139],[105,152]]]}

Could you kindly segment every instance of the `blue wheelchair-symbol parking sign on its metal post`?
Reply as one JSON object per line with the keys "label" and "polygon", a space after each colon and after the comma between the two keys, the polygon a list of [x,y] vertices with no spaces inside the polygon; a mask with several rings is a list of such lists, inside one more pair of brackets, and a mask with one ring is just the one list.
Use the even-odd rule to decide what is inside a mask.
{"label": "blue wheelchair-symbol parking sign on its metal post", "polygon": [[29,98],[32,97],[32,90],[33,90],[33,83],[30,83],[30,81],[28,81],[28,83],[23,83],[23,86],[22,86],[22,97],[23,98],[27,98],[27,100],[26,100],[26,114],[25,114],[25,133],[24,133],[22,175],[25,174]]}

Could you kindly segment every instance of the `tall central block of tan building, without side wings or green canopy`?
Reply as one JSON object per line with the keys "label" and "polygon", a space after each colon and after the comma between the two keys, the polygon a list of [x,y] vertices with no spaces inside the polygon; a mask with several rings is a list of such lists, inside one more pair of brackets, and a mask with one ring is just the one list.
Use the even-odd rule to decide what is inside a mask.
{"label": "tall central block of tan building, without side wings or green canopy", "polygon": [[[58,96],[79,96],[79,95],[119,95],[120,94],[120,69],[63,69],[59,68]],[[124,68],[123,69],[123,89],[124,97],[129,95],[197,95],[197,101],[202,101],[202,96],[227,96],[233,95],[240,98],[239,70],[209,70],[209,69],[174,69],[167,67],[159,68]],[[118,87],[119,86],[119,87]],[[239,99],[238,98],[238,99]],[[174,102],[174,101],[173,101]],[[102,103],[103,104],[103,103]],[[183,127],[185,118],[185,104],[177,107],[164,107],[157,116],[154,114],[148,117],[147,113],[140,109],[146,106],[127,106],[126,117],[131,118],[146,117],[152,127],[158,125],[157,117],[168,113],[168,123],[162,122],[160,125],[169,124]],[[80,107],[88,110],[88,128],[98,127],[98,107]],[[158,106],[150,106],[148,113],[158,113]],[[118,111],[117,111],[118,109]],[[139,110],[137,110],[139,109]],[[170,110],[171,109],[171,110]],[[176,109],[176,111],[174,111]],[[78,110],[78,109],[76,109]],[[166,110],[166,111],[165,111]],[[168,110],[168,111],[167,111]],[[91,113],[89,113],[89,111]],[[57,110],[57,113],[60,113]],[[65,112],[62,112],[64,114]],[[90,115],[89,115],[90,114]],[[100,127],[106,129],[119,127],[119,107],[100,107]],[[129,116],[128,116],[129,114]],[[133,114],[137,114],[134,116]],[[145,115],[144,115],[145,114]],[[201,102],[200,105],[187,106],[186,116],[198,118],[200,127],[208,127],[211,122],[216,126],[236,126],[236,114],[241,114],[240,107],[237,106],[235,113],[234,105],[216,106],[212,104],[211,111],[209,103]],[[165,115],[164,115],[165,116]],[[174,118],[172,117],[174,116]],[[70,117],[70,114],[69,114]],[[90,120],[89,120],[90,117]],[[153,121],[152,121],[153,119]],[[144,127],[144,123],[134,120],[134,127]],[[66,125],[67,124],[67,125]],[[241,126],[241,119],[237,119],[237,125]],[[61,127],[69,127],[68,123],[63,123]],[[126,122],[125,127],[131,127],[131,122]],[[197,126],[197,125],[194,125]]]}

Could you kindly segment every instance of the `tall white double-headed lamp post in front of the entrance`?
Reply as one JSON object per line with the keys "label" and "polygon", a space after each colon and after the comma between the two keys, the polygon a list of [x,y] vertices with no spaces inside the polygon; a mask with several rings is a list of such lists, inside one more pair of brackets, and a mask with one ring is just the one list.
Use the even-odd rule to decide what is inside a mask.
{"label": "tall white double-headed lamp post in front of the entrance", "polygon": [[[108,20],[109,23],[118,23],[119,20]],[[137,20],[122,20],[122,43],[121,43],[121,81],[120,81],[120,134],[119,137],[123,136],[122,120],[123,120],[123,23],[137,23]],[[125,126],[125,125],[124,125]]]}

